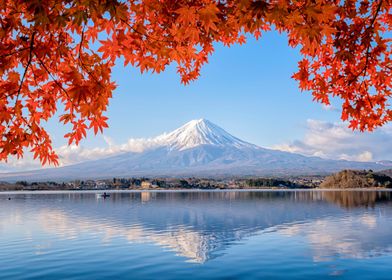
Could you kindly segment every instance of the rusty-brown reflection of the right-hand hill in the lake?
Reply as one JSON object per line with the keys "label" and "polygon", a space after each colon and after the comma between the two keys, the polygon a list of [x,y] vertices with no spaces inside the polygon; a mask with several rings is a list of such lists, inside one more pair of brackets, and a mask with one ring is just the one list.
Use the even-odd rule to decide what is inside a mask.
{"label": "rusty-brown reflection of the right-hand hill in the lake", "polygon": [[392,199],[391,192],[384,191],[326,191],[323,198],[343,208],[371,207]]}

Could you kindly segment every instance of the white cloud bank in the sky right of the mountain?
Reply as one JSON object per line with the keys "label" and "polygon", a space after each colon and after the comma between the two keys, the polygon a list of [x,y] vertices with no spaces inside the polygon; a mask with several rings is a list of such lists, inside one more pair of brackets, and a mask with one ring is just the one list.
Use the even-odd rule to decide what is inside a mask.
{"label": "white cloud bank in the sky right of the mountain", "polygon": [[392,127],[387,125],[373,132],[359,132],[347,128],[344,123],[308,120],[303,139],[273,148],[330,159],[391,160]]}

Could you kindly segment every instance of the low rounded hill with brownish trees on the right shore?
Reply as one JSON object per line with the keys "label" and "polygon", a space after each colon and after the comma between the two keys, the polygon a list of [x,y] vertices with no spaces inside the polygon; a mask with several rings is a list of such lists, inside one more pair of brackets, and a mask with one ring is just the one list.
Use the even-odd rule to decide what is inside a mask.
{"label": "low rounded hill with brownish trees on the right shore", "polygon": [[392,178],[372,170],[343,170],[325,178],[324,189],[392,188]]}

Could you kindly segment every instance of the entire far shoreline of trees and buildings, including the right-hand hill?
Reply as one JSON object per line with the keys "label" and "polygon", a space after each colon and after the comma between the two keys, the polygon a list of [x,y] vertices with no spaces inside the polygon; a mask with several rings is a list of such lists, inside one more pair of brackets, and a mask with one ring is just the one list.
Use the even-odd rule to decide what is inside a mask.
{"label": "entire far shoreline of trees and buildings, including the right-hand hill", "polygon": [[[392,188],[386,172],[343,170],[330,176],[288,178],[111,178],[69,182],[0,182],[0,191],[38,190],[187,190],[187,189],[366,189]],[[388,175],[387,175],[388,174]]]}

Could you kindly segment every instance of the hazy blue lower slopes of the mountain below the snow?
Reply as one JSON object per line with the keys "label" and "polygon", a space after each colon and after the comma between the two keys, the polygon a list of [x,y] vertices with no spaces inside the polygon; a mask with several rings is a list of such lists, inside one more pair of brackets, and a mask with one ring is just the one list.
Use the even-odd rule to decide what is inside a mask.
{"label": "hazy blue lower slopes of the mountain below the snow", "polygon": [[306,157],[264,148],[233,148],[203,144],[186,150],[161,147],[143,153],[124,153],[80,164],[1,174],[3,181],[71,181],[113,177],[289,177],[329,175],[342,169],[382,170],[372,162]]}

